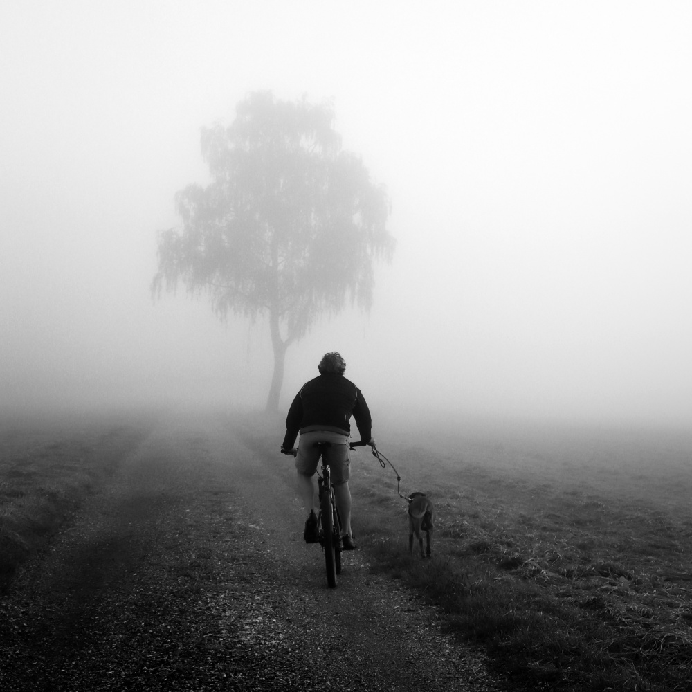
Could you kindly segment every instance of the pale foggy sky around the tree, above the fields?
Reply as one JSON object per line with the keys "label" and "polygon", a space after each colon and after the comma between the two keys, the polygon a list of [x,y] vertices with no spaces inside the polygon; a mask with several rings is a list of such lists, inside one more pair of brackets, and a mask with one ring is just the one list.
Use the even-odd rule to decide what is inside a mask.
{"label": "pale foggy sky around the tree, above the fields", "polygon": [[250,91],[334,100],[392,203],[338,350],[377,412],[692,425],[692,6],[4,2],[3,408],[261,407],[266,325],[152,300],[156,231]]}

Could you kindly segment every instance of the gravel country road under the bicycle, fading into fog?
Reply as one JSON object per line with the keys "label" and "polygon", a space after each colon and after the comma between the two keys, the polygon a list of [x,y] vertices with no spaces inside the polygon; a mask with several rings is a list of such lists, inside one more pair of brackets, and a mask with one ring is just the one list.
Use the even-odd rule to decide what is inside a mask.
{"label": "gravel country road under the bicycle, fading into fog", "polygon": [[161,419],[0,604],[0,689],[507,689],[364,550],[327,588],[281,430],[260,433]]}

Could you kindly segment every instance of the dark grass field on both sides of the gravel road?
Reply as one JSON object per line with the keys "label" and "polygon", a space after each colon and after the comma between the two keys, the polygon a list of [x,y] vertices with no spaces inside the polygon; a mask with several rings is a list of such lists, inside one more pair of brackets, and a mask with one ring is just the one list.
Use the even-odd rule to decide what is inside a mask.
{"label": "dark grass field on both sides of the gravel road", "polygon": [[[0,426],[3,590],[109,482],[150,421]],[[231,422],[277,452],[280,419],[271,441],[262,415]],[[516,689],[689,690],[691,436],[399,421],[377,439],[401,491],[435,501],[434,554],[408,556],[396,476],[364,450],[352,462],[358,543],[375,570],[421,590],[450,630],[486,648]]]}

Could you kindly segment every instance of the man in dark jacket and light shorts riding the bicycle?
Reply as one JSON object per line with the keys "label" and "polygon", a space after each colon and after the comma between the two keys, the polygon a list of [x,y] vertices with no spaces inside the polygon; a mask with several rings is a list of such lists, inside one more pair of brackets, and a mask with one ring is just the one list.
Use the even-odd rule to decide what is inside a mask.
{"label": "man in dark jacket and light shorts riding the bicycle", "polygon": [[324,448],[324,455],[325,462],[331,468],[331,482],[334,484],[336,505],[342,520],[341,540],[344,549],[353,550],[356,543],[351,529],[351,491],[348,487],[349,421],[351,416],[356,419],[361,441],[374,444],[370,410],[361,390],[343,376],[346,362],[340,354],[332,352],[322,356],[318,370],[319,376],[306,382],[291,403],[281,450],[284,453],[291,450],[300,432],[295,468],[298,471],[298,491],[305,510],[309,512],[303,536],[306,543],[317,543],[319,537],[313,502],[313,475],[317,471],[322,450],[315,443],[330,443],[329,447]]}

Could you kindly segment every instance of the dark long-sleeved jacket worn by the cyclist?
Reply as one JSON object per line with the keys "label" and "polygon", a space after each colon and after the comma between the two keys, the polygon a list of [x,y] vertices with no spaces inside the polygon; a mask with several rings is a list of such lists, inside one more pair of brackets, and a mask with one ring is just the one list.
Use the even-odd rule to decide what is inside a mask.
{"label": "dark long-sleeved jacket worn by the cyclist", "polygon": [[343,375],[320,374],[306,382],[295,395],[286,416],[284,449],[291,449],[304,428],[334,430],[348,435],[349,421],[356,419],[361,441],[370,441],[372,421],[363,393]]}

